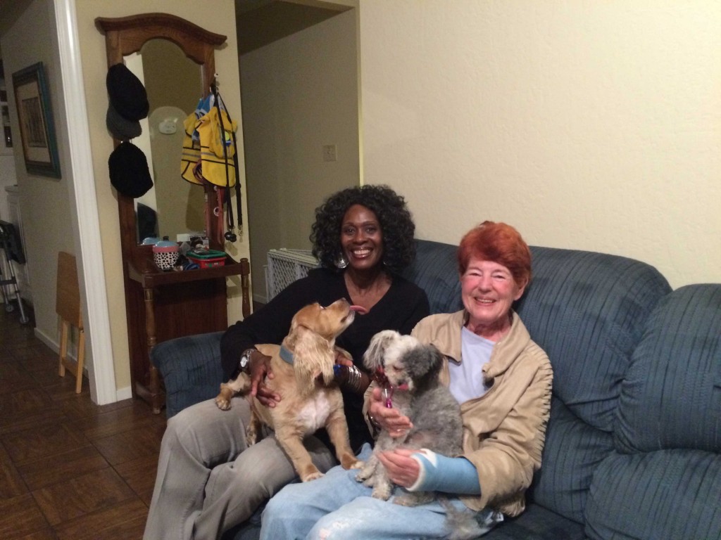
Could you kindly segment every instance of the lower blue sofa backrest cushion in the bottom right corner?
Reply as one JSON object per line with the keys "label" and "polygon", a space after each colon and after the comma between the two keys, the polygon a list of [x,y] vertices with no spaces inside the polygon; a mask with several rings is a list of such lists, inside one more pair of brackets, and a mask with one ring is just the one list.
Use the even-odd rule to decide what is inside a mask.
{"label": "lower blue sofa backrest cushion in the bottom right corner", "polygon": [[597,540],[719,539],[720,500],[719,454],[614,453],[593,475],[585,532]]}

